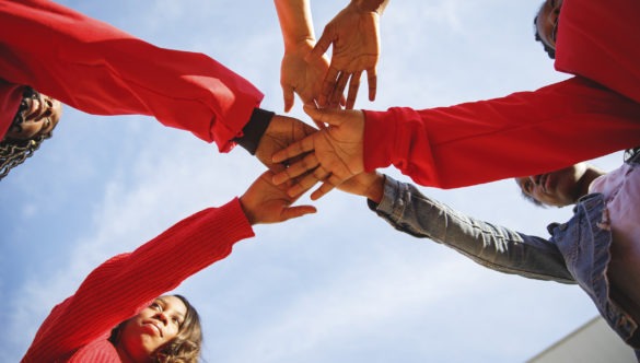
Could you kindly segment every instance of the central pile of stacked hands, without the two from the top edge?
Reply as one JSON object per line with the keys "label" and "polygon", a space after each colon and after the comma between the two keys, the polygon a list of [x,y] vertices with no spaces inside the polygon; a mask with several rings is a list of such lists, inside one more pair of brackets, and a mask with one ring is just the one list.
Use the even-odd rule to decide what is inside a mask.
{"label": "central pile of stacked hands, without the two from the top edge", "polygon": [[[368,195],[377,178],[375,173],[364,173],[363,113],[353,109],[318,109],[312,105],[305,105],[304,110],[316,125],[322,126],[319,130],[299,119],[276,115],[260,139],[256,156],[269,171],[241,197],[252,224],[281,222],[315,212],[311,206],[289,206],[318,182],[322,185],[312,192],[313,200],[335,187],[377,199]],[[255,188],[263,191],[255,192],[255,196],[261,196],[260,201],[251,198],[254,195],[252,189]],[[248,198],[256,207],[260,202],[268,202],[272,208],[265,208],[265,204],[248,208]],[[257,210],[263,215],[253,215],[253,211]]]}

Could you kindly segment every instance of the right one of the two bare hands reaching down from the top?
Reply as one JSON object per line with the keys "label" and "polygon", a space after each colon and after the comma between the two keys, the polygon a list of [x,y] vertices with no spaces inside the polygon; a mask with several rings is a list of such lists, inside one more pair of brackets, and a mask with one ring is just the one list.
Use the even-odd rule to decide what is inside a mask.
{"label": "right one of the two bare hands reaching down from the top", "polygon": [[350,2],[326,26],[307,59],[321,58],[333,45],[331,62],[318,98],[321,107],[336,107],[349,83],[346,107],[353,108],[360,77],[366,71],[369,101],[375,99],[380,58],[380,14]]}

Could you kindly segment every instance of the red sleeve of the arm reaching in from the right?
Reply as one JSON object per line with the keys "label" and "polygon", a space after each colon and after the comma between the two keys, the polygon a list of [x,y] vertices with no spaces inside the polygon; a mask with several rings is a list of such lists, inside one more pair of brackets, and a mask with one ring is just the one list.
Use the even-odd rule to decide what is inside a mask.
{"label": "red sleeve of the arm reaching in from the right", "polygon": [[456,188],[535,175],[640,144],[640,105],[580,78],[452,107],[365,112],[364,167]]}

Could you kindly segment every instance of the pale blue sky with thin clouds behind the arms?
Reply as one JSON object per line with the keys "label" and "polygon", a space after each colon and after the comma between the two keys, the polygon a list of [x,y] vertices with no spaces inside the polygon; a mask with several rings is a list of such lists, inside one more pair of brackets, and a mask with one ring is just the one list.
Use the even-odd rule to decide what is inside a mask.
{"label": "pale blue sky with thin clouds behind the arms", "polygon": [[[60,2],[159,46],[205,52],[256,84],[264,108],[282,113],[271,1]],[[318,36],[344,5],[312,3]],[[361,92],[356,107],[446,106],[566,79],[533,39],[538,5],[392,1],[381,21],[377,99]],[[300,106],[290,114],[309,121]],[[612,169],[620,160],[594,163]],[[55,137],[0,188],[2,361],[22,356],[49,309],[98,264],[240,196],[261,171],[242,149],[219,154],[149,117],[66,107]],[[571,214],[525,202],[512,180],[422,190],[540,236]],[[516,362],[597,315],[575,285],[481,268],[396,232],[361,198],[336,191],[316,206],[316,215],[257,226],[255,238],[178,288],[203,318],[207,362]]]}

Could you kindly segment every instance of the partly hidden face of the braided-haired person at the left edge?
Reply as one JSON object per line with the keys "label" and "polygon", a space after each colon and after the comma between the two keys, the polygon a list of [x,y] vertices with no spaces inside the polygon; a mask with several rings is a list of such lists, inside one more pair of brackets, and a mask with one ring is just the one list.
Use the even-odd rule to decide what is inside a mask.
{"label": "partly hidden face of the braided-haired person at the left edge", "polygon": [[23,113],[24,121],[11,127],[5,138],[30,140],[50,132],[62,115],[62,104],[45,94],[35,98],[26,98],[26,109]]}

